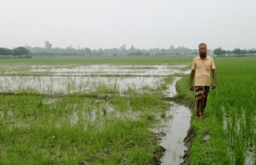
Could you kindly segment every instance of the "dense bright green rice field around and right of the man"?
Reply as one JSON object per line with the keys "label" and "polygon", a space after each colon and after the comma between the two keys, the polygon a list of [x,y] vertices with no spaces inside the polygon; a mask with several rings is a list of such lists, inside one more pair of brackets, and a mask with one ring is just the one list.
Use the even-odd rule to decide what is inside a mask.
{"label": "dense bright green rice field around and right of the man", "polygon": [[[248,150],[256,152],[252,149],[256,143],[256,86],[252,85],[256,80],[256,58],[215,57],[214,61],[217,87],[210,88],[204,119],[192,117],[191,126],[196,130],[196,138],[189,161],[191,165],[243,164]],[[195,93],[189,90],[189,80],[190,75],[177,82],[178,96],[195,101]],[[223,128],[224,117],[227,118],[226,130]],[[206,134],[212,139],[200,143]]]}

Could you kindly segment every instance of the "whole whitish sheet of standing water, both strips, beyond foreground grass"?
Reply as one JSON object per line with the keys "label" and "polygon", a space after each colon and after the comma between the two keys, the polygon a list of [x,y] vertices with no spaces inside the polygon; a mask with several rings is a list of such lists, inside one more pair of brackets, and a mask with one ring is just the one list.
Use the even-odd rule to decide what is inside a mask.
{"label": "whole whitish sheet of standing water, both strips, beyond foreground grass", "polygon": [[190,70],[179,69],[186,66],[188,65],[3,65],[0,92],[95,92],[102,86],[120,93],[128,89],[143,92],[145,87],[154,90],[167,75],[190,73]]}

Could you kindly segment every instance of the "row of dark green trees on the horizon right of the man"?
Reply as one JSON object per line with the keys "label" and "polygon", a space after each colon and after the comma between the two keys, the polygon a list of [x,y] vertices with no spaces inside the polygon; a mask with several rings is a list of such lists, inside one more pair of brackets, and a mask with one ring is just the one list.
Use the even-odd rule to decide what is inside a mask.
{"label": "row of dark green trees on the horizon right of the man", "polygon": [[222,50],[222,48],[217,48],[213,50],[213,54],[214,55],[255,55],[256,54],[256,49],[252,48],[252,49],[240,49],[240,48],[235,48],[233,51],[226,51],[226,50]]}

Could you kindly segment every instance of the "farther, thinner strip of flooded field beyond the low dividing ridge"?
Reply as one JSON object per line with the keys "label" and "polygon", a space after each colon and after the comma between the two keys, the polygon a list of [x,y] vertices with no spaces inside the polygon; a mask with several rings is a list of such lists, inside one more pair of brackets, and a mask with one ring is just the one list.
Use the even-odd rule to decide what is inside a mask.
{"label": "farther, thinner strip of flooded field beyond the low dividing ridge", "polygon": [[[184,73],[180,68],[188,65],[6,65],[2,75],[52,75],[52,76],[100,76],[100,75],[134,75],[167,76]],[[23,72],[17,70],[24,70]]]}

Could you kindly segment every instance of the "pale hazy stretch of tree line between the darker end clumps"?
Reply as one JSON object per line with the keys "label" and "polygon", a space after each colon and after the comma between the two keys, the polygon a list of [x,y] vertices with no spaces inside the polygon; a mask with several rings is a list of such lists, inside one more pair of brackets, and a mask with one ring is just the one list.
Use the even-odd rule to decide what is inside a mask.
{"label": "pale hazy stretch of tree line between the darker end clumps", "polygon": [[[154,48],[154,49],[139,49],[134,48],[132,45],[131,48],[126,48],[126,45],[123,44],[120,48],[109,48],[109,49],[102,49],[99,48],[98,50],[90,48],[80,48],[78,46],[77,48],[73,48],[72,45],[66,47],[66,48],[53,48],[53,45],[50,44],[49,41],[45,41],[45,47],[34,47],[25,45],[25,48],[28,49],[31,52],[31,55],[33,56],[149,56],[149,55],[157,55],[157,56],[168,56],[168,55],[198,55],[197,49],[188,49],[182,47],[174,48],[173,45],[171,45],[168,49],[163,48]],[[208,54],[213,54],[213,51],[208,49]]]}

